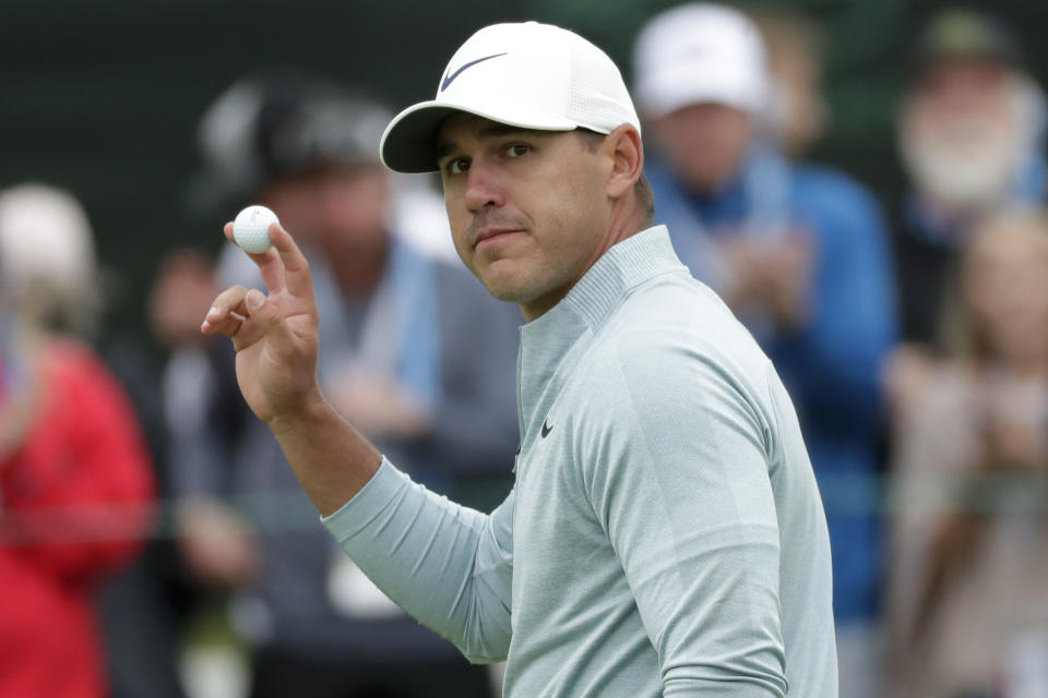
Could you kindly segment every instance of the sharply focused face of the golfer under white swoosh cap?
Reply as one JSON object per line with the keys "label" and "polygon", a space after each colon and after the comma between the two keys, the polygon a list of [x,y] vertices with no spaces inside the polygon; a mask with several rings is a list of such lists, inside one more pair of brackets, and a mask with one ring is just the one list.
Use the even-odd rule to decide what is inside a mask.
{"label": "sharply focused face of the golfer under white swoosh cap", "polygon": [[526,320],[552,308],[610,246],[603,146],[465,113],[441,125],[437,144],[458,255]]}

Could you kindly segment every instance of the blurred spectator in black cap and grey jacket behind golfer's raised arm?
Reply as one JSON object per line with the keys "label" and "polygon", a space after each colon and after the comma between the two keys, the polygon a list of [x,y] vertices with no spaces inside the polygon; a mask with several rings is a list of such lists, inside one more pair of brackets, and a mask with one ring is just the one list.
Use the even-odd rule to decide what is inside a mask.
{"label": "blurred spectator in black cap and grey jacket behind golfer's raised arm", "polygon": [[[517,443],[520,318],[461,266],[421,254],[394,229],[397,190],[378,159],[388,120],[377,105],[315,80],[241,81],[202,122],[213,164],[205,181],[212,193],[225,188],[227,219],[235,206],[262,203],[301,241],[323,317],[320,378],[336,408],[416,478],[495,504],[511,485]],[[398,219],[412,216],[401,210]],[[224,284],[260,285],[235,248],[219,274]],[[477,326],[488,332],[477,336]],[[179,457],[192,497],[181,518],[201,575],[241,592],[235,621],[258,649],[252,696],[486,695],[483,667],[337,552],[269,429],[247,414],[234,376],[216,376],[196,410],[205,432],[191,443],[219,447]],[[231,405],[239,435],[228,441],[237,430],[206,416],[229,414]],[[247,497],[247,508],[217,505],[230,494]],[[203,522],[217,543],[196,545]]]}

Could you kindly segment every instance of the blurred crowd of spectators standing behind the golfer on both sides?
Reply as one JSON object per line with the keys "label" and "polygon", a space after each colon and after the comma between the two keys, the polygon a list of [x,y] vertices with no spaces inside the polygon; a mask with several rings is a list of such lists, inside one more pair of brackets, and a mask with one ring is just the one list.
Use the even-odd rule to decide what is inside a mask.
{"label": "blurred crowd of spectators standing behind the golfer on both sides", "polygon": [[[843,698],[1048,697],[1046,101],[1000,20],[919,27],[898,196],[809,161],[832,115],[819,25],[684,4],[634,44],[655,220],[775,363],[825,504]],[[440,194],[378,160],[386,107],[245,76],[202,113],[189,207],[271,207],[305,250],[333,405],[413,478],[489,509],[517,446],[514,306],[457,263]],[[0,190],[0,696],[198,698],[218,615],[229,698],[491,696],[340,554],[200,334],[260,287],[231,244],[171,250],[107,341],[112,284],[68,192]],[[210,610],[210,611],[209,611]]]}

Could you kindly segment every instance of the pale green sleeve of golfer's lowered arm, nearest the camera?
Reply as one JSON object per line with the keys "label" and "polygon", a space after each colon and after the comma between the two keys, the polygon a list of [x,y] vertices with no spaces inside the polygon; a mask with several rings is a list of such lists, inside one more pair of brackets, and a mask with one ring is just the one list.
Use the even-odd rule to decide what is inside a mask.
{"label": "pale green sleeve of golfer's lowered arm, nearest the camera", "polygon": [[651,347],[643,357],[620,361],[621,401],[591,416],[602,425],[580,455],[602,455],[586,488],[664,695],[782,698],[779,532],[760,416],[723,366]]}

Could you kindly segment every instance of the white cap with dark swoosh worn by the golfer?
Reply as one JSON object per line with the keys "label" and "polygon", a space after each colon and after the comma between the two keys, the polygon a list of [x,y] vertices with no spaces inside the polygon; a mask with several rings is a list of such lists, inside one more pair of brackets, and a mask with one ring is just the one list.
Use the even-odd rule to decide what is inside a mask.
{"label": "white cap with dark swoosh worn by the golfer", "polygon": [[408,107],[386,127],[382,161],[400,172],[436,171],[437,129],[460,111],[539,131],[641,129],[607,53],[537,22],[493,24],[469,37],[444,69],[437,97]]}

